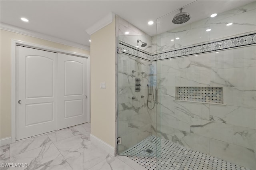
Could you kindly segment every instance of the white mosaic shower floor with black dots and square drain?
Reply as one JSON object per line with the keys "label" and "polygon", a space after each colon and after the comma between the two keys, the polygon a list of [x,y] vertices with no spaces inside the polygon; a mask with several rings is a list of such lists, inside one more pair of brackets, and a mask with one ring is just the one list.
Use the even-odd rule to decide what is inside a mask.
{"label": "white mosaic shower floor with black dots and square drain", "polygon": [[[147,152],[148,149],[153,152]],[[156,154],[159,154],[157,158],[153,157]],[[137,155],[128,157],[148,170],[248,170],[154,135],[148,136],[120,155]]]}

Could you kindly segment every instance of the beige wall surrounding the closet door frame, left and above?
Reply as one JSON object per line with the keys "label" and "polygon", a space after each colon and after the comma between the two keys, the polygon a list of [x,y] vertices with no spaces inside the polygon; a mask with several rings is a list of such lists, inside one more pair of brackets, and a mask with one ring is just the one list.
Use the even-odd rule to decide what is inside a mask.
{"label": "beige wall surrounding the closet door frame, left and above", "polygon": [[90,51],[0,30],[0,138],[11,136],[11,39],[90,55]]}

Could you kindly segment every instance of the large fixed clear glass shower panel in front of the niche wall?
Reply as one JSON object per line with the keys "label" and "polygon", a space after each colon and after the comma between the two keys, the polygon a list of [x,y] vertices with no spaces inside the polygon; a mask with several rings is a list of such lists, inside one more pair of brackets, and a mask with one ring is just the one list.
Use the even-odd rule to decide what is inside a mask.
{"label": "large fixed clear glass shower panel in front of the niche wall", "polygon": [[[222,11],[213,3],[217,16],[198,18],[196,6],[212,1],[193,2],[182,11],[191,14],[184,24],[172,23],[179,10],[158,18],[152,37],[162,138],[157,169],[190,169],[189,162],[202,169],[221,159],[230,169],[235,164],[256,169],[256,1],[248,2],[228,8],[222,1],[227,7]],[[188,100],[179,100],[179,94]],[[207,162],[190,161],[189,155]]]}

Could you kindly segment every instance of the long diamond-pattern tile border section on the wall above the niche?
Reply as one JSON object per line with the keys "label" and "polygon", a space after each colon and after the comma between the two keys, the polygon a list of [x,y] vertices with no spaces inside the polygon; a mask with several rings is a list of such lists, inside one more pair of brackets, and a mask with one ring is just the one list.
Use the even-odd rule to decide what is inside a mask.
{"label": "long diamond-pattern tile border section on the wall above the niche", "polygon": [[244,45],[251,45],[255,43],[256,43],[256,34],[249,34],[246,36],[230,38],[226,40],[220,40],[217,42],[210,42],[210,43],[197,45],[193,47],[187,47],[184,49],[178,49],[178,50],[155,54],[155,55],[152,55],[151,61],[157,61],[161,59],[169,59],[169,58],[175,58],[175,57],[183,57],[183,56],[194,55],[199,53],[207,53],[211,51],[218,51],[218,50],[228,49],[233,47],[241,47]]}

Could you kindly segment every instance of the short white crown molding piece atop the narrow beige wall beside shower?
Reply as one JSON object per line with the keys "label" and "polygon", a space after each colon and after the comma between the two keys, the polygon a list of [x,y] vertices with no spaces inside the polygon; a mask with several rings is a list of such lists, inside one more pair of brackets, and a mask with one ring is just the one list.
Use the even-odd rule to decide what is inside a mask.
{"label": "short white crown molding piece atop the narrow beige wall beside shower", "polygon": [[107,26],[108,24],[112,23],[114,20],[116,14],[113,12],[110,12],[104,18],[100,19],[98,22],[96,22],[94,25],[92,25],[90,28],[86,30],[86,32],[89,35],[92,35],[94,32],[102,29],[104,26]]}

